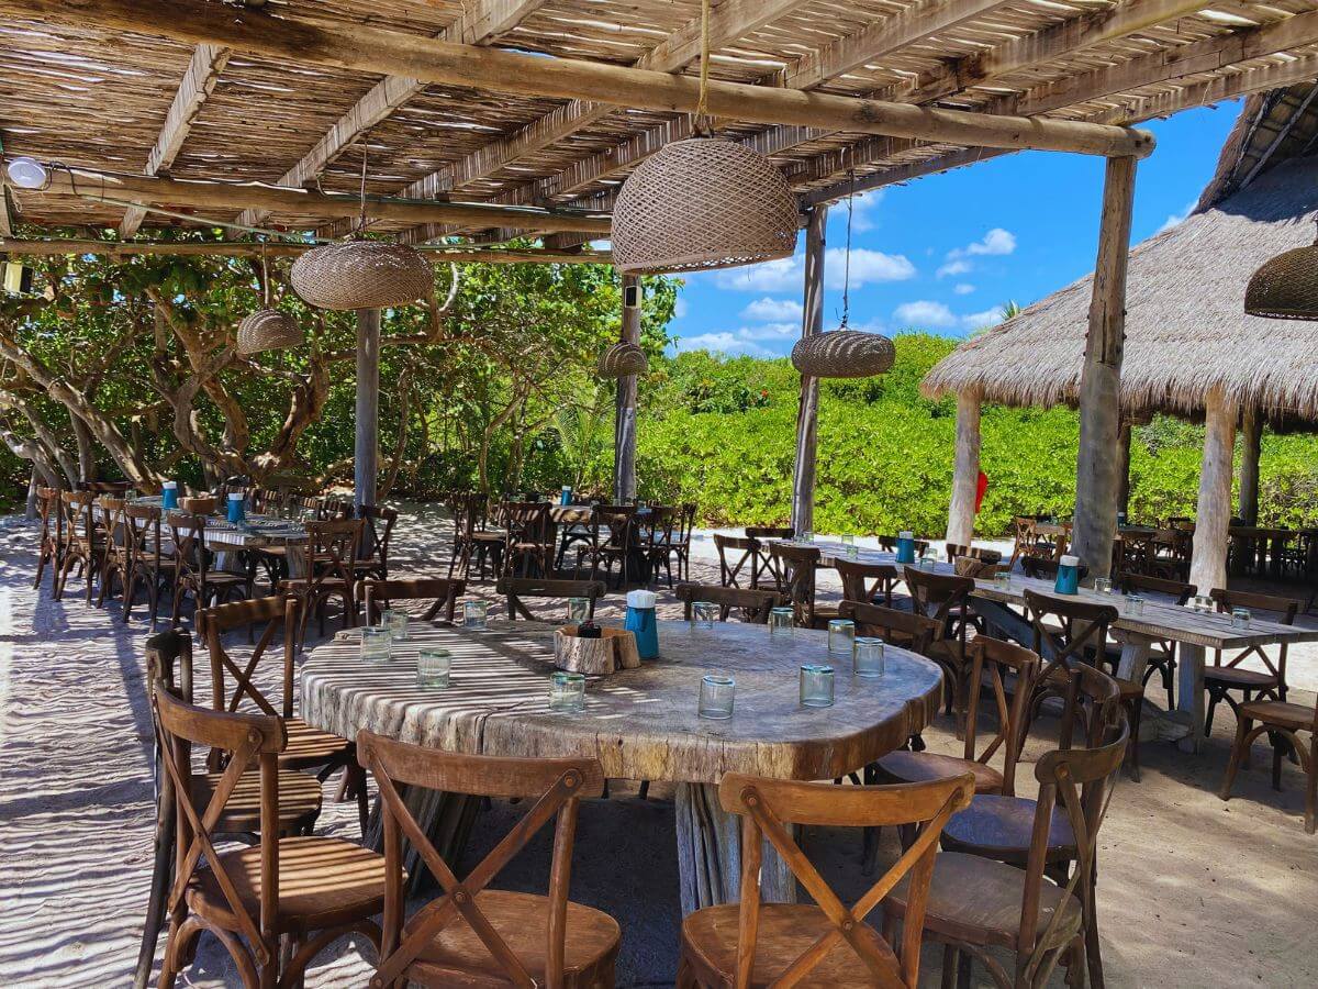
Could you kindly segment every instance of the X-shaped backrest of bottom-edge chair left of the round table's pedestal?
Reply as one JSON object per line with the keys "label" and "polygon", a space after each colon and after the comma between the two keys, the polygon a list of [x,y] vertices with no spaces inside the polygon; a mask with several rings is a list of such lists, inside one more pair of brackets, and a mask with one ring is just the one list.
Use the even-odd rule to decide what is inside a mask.
{"label": "X-shaped backrest of bottom-edge chair left of the round table's pedestal", "polygon": [[[546,923],[544,984],[563,985],[567,944],[568,882],[577,811],[584,796],[604,793],[604,770],[596,760],[525,760],[459,756],[394,741],[370,732],[357,734],[357,758],[380,787],[385,840],[385,916],[380,967],[374,980],[394,985],[407,967],[455,922],[465,922],[480,938],[509,984],[536,985],[522,960],[481,913],[477,897],[551,819],[556,819],[550,865]],[[435,851],[430,835],[413,816],[398,785],[468,796],[519,798],[530,803],[521,820],[464,880],[459,880]],[[403,837],[444,890],[418,915],[423,923],[405,926]]]}

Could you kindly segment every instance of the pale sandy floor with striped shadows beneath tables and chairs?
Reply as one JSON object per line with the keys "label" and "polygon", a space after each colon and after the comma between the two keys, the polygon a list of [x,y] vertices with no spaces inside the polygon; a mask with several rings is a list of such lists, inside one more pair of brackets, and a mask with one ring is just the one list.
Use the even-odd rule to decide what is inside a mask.
{"label": "pale sandy floor with striped shadows beneath tables and chairs", "polygon": [[[440,530],[434,512],[409,514],[394,568],[444,572],[447,559],[440,568],[423,549],[447,546]],[[28,524],[0,522],[0,984],[123,986],[137,956],[150,872],[146,629],[140,620],[121,624],[117,604],[88,608],[78,582],[62,603],[33,591],[33,539]],[[714,572],[704,560],[693,571],[696,579]],[[1313,647],[1292,654],[1301,703],[1313,700],[1315,659]],[[954,740],[944,728],[927,740],[950,752]],[[1111,985],[1318,985],[1318,840],[1301,825],[1302,777],[1288,764],[1285,793],[1273,793],[1260,748],[1236,798],[1222,803],[1214,794],[1232,731],[1230,715],[1219,717],[1197,757],[1145,744],[1144,782],[1116,791],[1099,858]],[[1041,749],[1033,745],[1027,758]],[[1028,766],[1020,775],[1032,778]],[[663,798],[656,787],[641,802],[625,787],[581,815],[572,895],[618,918],[619,985],[670,985],[676,968],[676,853]],[[467,868],[515,814],[496,806],[482,815]],[[355,839],[355,808],[327,799],[319,831]],[[813,829],[805,845],[846,898],[865,889],[858,835]],[[501,885],[543,887],[546,851],[544,840],[532,845]],[[936,982],[938,956],[925,955],[925,981]],[[361,943],[336,944],[307,984],[364,985],[372,960]],[[208,939],[181,982],[237,985]]]}

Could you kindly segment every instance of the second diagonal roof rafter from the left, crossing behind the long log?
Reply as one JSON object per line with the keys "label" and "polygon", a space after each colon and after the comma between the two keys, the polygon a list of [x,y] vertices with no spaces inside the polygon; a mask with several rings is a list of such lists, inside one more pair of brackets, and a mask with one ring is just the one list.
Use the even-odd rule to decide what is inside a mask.
{"label": "second diagonal roof rafter from the left, crossing behind the long log", "polygon": [[[439,38],[465,45],[489,45],[547,3],[548,0],[481,0],[471,12],[467,8],[472,5],[464,4],[463,13],[439,34]],[[326,136],[279,177],[277,185],[304,186],[315,181],[353,141],[423,92],[426,86],[427,83],[411,76],[386,75],[339,117]],[[244,227],[256,227],[264,223],[266,216],[268,214],[260,210],[249,210],[239,216],[239,223]]]}

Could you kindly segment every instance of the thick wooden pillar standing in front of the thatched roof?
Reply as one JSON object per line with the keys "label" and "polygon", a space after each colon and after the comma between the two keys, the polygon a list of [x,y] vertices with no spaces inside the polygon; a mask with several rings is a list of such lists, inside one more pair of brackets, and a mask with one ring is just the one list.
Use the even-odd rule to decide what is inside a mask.
{"label": "thick wooden pillar standing in front of the thatched roof", "polygon": [[1079,456],[1075,463],[1073,553],[1093,576],[1107,576],[1116,533],[1116,446],[1126,338],[1126,260],[1131,245],[1135,158],[1108,158],[1098,264],[1089,305],[1079,382]]}

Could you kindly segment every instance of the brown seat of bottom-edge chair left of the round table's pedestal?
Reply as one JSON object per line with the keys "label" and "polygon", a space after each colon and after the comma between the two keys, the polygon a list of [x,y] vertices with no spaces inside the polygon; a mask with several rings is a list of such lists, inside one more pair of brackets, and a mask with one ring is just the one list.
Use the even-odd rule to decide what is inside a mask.
{"label": "brown seat of bottom-edge chair left of the round table's pedestal", "polygon": [[[476,906],[507,943],[536,985],[544,985],[544,923],[550,898],[532,893],[482,890]],[[563,961],[569,986],[613,984],[613,964],[622,931],[608,914],[568,901]],[[455,918],[406,969],[407,978],[427,985],[509,985],[507,974],[464,919]]]}

